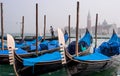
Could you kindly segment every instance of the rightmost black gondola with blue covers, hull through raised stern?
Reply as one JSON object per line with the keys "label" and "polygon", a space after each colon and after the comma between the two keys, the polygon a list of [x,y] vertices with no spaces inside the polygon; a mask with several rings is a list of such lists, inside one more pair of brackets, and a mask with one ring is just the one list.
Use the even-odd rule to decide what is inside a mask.
{"label": "rightmost black gondola with blue covers, hull through raised stern", "polygon": [[113,58],[120,54],[120,39],[113,31],[111,38],[103,42],[94,52],[84,56],[71,56],[66,50],[68,74],[70,76],[88,75],[89,73],[102,71],[112,66]]}

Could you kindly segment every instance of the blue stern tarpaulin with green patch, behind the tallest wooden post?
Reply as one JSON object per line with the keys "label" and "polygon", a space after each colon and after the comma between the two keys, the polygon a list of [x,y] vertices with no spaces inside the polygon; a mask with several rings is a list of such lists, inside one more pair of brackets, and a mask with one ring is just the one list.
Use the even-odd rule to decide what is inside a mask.
{"label": "blue stern tarpaulin with green patch, behind the tallest wooden post", "polygon": [[[89,33],[88,30],[86,30],[85,35],[79,40],[79,43],[78,43],[78,45],[79,45],[79,47],[78,47],[79,52],[85,51],[90,46],[92,41],[93,40],[92,40],[91,34]],[[75,50],[76,50],[76,41],[72,41],[68,45],[68,52],[71,55],[73,55],[73,54],[75,54]]]}

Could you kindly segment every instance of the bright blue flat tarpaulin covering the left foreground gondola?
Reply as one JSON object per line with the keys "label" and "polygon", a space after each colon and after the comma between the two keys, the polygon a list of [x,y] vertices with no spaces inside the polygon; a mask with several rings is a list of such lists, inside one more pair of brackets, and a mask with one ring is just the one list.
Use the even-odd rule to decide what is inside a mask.
{"label": "bright blue flat tarpaulin covering the left foreground gondola", "polygon": [[[38,56],[36,58],[23,58],[24,66],[34,66],[39,62],[51,62],[61,60],[61,54],[59,51],[46,53],[44,55]],[[44,64],[44,63],[43,63]]]}

